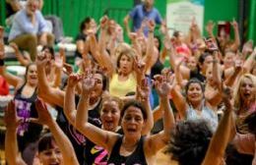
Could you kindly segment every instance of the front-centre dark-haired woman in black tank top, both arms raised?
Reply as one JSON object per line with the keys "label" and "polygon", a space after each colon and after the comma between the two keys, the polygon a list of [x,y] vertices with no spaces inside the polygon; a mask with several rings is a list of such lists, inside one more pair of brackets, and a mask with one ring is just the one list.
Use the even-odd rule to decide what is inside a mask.
{"label": "front-centre dark-haired woman in black tank top, both arms raised", "polygon": [[148,119],[144,106],[137,101],[127,102],[121,111],[121,127],[124,135],[107,132],[88,123],[89,97],[95,85],[95,80],[87,78],[83,83],[83,94],[76,115],[76,127],[87,138],[104,147],[109,158],[107,164],[154,164],[156,154],[162,148],[174,125],[167,93],[172,87],[168,83],[157,83],[160,94],[160,104],[164,110],[163,132],[155,136],[142,136],[142,130]]}

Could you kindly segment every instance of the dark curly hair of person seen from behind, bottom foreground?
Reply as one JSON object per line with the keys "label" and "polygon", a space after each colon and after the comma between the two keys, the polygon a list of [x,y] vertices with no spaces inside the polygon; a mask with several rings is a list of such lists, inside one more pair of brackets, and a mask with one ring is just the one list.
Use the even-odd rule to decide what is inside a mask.
{"label": "dark curly hair of person seen from behind, bottom foreground", "polygon": [[206,155],[213,132],[205,120],[182,121],[171,133],[166,153],[179,165],[200,165]]}

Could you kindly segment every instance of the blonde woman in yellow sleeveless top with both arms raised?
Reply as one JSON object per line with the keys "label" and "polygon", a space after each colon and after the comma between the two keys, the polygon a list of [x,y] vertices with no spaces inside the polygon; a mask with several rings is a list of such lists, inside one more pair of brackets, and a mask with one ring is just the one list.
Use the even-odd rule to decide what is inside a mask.
{"label": "blonde woman in yellow sleeveless top with both arms raised", "polygon": [[[104,17],[101,19],[100,27],[100,37],[98,44],[96,43],[95,36],[91,36],[91,49],[94,50],[93,55],[96,59],[96,62],[99,64],[101,68],[107,69],[107,75],[110,79],[109,82],[109,93],[113,96],[125,96],[130,91],[136,91],[137,83],[141,82],[140,77],[145,75],[145,72],[150,71],[151,67],[154,65],[153,63],[153,52],[154,50],[154,34],[153,30],[155,27],[155,23],[149,23],[151,25],[151,36],[149,39],[149,49],[147,50],[146,56],[144,57],[145,61],[145,72],[142,75],[139,75],[134,71],[134,59],[139,57],[141,60],[140,53],[137,53],[131,46],[123,44],[122,49],[116,48],[116,61],[112,61],[112,58],[106,52],[105,46],[105,35],[106,35],[106,23],[108,19]],[[118,51],[118,52],[117,52]],[[156,59],[157,60],[157,59]]]}

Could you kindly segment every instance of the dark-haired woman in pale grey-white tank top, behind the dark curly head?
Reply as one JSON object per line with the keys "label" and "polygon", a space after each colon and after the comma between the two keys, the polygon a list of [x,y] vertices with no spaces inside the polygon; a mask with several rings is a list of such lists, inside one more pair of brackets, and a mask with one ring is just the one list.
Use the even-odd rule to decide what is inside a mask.
{"label": "dark-haired woman in pale grey-white tank top, behind the dark curly head", "polygon": [[171,90],[172,100],[178,110],[179,117],[184,120],[204,119],[213,130],[217,129],[218,116],[214,111],[219,102],[210,102],[205,98],[205,87],[197,79],[191,79],[185,86],[185,97],[175,86]]}

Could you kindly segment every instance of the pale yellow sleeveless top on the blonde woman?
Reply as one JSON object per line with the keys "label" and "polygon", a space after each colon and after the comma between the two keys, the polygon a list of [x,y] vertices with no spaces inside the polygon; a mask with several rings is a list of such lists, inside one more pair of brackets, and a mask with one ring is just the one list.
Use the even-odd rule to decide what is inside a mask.
{"label": "pale yellow sleeveless top on the blonde woman", "polygon": [[130,91],[136,91],[136,85],[136,78],[133,74],[130,74],[125,82],[120,82],[118,74],[114,74],[109,83],[109,93],[111,96],[125,96]]}

